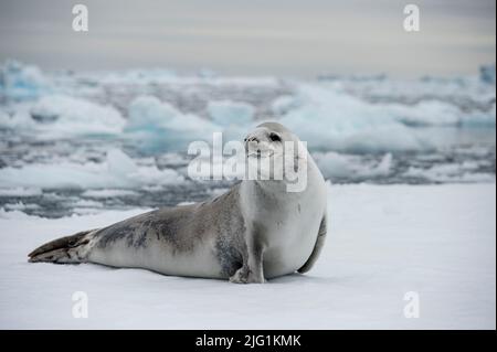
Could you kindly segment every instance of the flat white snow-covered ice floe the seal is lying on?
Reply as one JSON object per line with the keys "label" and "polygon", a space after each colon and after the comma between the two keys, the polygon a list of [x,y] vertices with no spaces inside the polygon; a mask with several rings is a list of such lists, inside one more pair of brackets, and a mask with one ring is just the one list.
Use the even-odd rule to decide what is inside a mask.
{"label": "flat white snow-covered ice floe the seal is lying on", "polygon": [[[385,161],[387,162],[387,161]],[[316,267],[266,285],[29,264],[39,244],[146,210],[57,220],[0,211],[0,328],[495,329],[496,188],[331,185]],[[73,318],[72,295],[88,297]],[[403,314],[406,292],[420,317]]]}

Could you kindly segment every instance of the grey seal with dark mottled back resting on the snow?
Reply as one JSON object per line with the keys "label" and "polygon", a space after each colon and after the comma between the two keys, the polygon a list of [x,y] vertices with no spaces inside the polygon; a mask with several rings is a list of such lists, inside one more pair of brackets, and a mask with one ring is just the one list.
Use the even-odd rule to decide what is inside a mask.
{"label": "grey seal with dark mottled back resting on the snow", "polygon": [[[30,253],[29,260],[95,263],[243,284],[306,273],[326,238],[326,184],[307,149],[285,153],[287,142],[302,145],[281,124],[258,125],[244,139],[245,153],[258,174],[268,178],[244,179],[210,201],[155,210],[49,242]],[[294,168],[305,171],[306,185],[288,192],[286,174],[277,179],[262,167],[268,158],[277,166],[297,160]]]}

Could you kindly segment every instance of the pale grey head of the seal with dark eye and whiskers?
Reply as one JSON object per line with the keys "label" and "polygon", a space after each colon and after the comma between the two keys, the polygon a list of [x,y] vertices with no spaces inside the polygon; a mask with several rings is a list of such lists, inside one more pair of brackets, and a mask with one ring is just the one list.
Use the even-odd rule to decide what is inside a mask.
{"label": "pale grey head of the seal with dark eye and whiskers", "polygon": [[248,179],[293,181],[306,171],[307,149],[299,138],[278,122],[258,125],[244,139]]}

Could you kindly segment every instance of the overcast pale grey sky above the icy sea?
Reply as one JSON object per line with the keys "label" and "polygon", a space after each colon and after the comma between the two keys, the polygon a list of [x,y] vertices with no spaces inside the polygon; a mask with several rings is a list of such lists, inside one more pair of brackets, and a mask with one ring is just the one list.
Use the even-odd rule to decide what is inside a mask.
{"label": "overcast pale grey sky above the icy sea", "polygon": [[[405,32],[416,3],[421,32]],[[89,31],[72,30],[84,3]],[[495,63],[494,0],[0,0],[0,61],[42,68],[414,77]]]}

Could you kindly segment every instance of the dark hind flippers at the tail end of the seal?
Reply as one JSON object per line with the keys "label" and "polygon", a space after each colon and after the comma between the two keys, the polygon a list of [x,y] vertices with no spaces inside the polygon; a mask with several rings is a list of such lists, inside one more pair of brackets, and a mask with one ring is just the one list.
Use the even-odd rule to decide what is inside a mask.
{"label": "dark hind flippers at the tail end of the seal", "polygon": [[83,231],[72,236],[61,237],[38,247],[28,256],[29,262],[76,264],[84,262],[86,248],[95,230]]}

